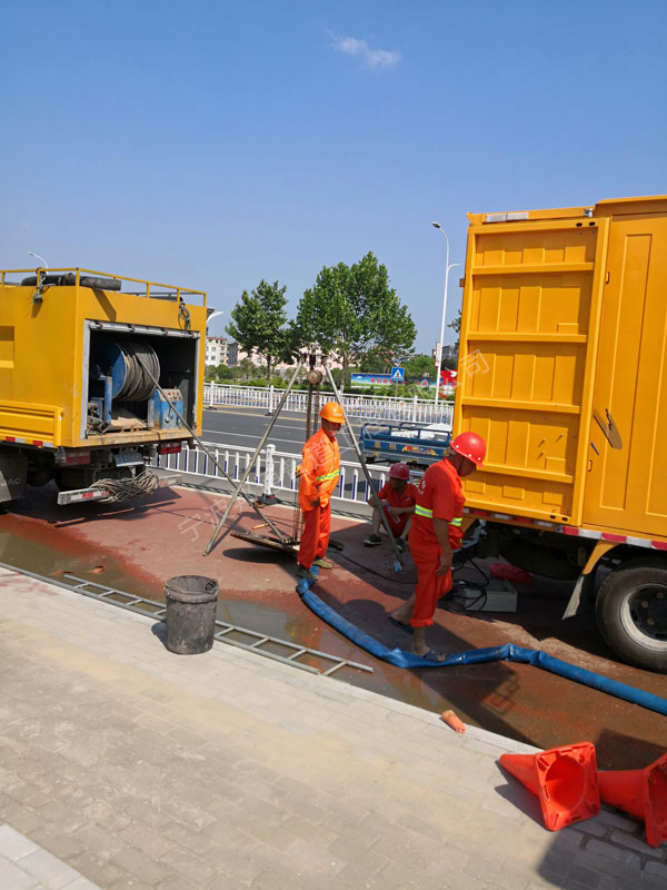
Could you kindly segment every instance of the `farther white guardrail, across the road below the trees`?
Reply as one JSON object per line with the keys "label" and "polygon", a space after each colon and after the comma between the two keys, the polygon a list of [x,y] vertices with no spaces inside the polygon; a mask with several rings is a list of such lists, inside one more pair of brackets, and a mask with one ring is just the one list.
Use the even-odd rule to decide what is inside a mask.
{"label": "farther white guardrail, across the road below the trees", "polygon": [[[236,405],[246,408],[262,408],[275,411],[282,397],[283,390],[273,386],[230,386],[229,384],[206,383],[203,385],[203,406],[213,408],[218,405]],[[307,393],[292,389],[288,395],[283,411],[306,412]],[[334,398],[330,393],[320,393],[322,403]],[[418,398],[396,398],[394,396],[357,396],[344,395],[342,406],[350,417],[360,417],[368,421],[407,421],[415,424],[449,424],[454,416],[454,405],[450,402],[439,402],[436,406],[432,400]]]}

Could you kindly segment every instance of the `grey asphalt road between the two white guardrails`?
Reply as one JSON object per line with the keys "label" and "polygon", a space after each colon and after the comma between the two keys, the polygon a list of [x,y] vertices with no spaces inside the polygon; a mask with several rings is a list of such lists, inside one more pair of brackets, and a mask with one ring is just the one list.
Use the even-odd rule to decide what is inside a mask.
{"label": "grey asphalt road between the two white guardrails", "polygon": [[[257,408],[222,407],[216,411],[205,411],[202,439],[222,445],[253,448],[257,447],[270,422],[271,417]],[[352,422],[352,428],[358,437],[361,424]],[[282,412],[271,429],[269,443],[276,446],[276,451],[298,455],[301,454],[305,441],[305,416],[293,412]],[[357,463],[355,449],[344,431],[338,435],[338,444],[341,459]]]}

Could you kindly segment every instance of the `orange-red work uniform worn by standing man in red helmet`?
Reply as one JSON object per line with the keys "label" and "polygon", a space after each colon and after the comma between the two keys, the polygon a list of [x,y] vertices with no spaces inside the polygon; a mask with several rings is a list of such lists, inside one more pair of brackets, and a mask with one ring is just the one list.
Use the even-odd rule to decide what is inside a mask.
{"label": "orange-red work uniform worn by standing man in red helmet", "polygon": [[427,627],[434,623],[438,600],[451,590],[451,570],[437,575],[442,550],[436,537],[434,520],[449,523],[449,545],[461,545],[461,517],[466,500],[461,482],[447,459],[432,464],[424,474],[417,490],[417,504],[410,526],[410,553],[417,567],[415,607],[410,624]]}

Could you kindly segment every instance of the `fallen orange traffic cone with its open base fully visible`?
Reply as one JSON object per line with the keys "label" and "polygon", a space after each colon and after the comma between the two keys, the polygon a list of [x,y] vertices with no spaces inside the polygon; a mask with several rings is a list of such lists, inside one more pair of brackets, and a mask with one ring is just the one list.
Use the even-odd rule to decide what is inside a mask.
{"label": "fallen orange traffic cone with its open base fully visible", "polygon": [[539,754],[502,754],[500,765],[538,795],[549,831],[558,831],[600,811],[595,748],[590,742],[554,748]]}

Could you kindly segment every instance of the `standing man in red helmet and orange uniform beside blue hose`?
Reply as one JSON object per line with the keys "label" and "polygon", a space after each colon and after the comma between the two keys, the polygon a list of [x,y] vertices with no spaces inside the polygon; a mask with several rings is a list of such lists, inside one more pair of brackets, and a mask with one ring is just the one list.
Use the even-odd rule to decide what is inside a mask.
{"label": "standing man in red helmet and orange uniform beside blue hose", "polygon": [[461,433],[447,457],[432,464],[417,490],[417,505],[408,543],[417,567],[415,593],[389,620],[412,630],[410,651],[427,661],[442,661],[426,642],[436,605],[452,586],[451,555],[461,545],[465,497],[460,479],[481,466],[486,444],[477,433]]}

